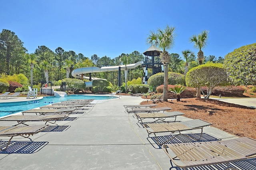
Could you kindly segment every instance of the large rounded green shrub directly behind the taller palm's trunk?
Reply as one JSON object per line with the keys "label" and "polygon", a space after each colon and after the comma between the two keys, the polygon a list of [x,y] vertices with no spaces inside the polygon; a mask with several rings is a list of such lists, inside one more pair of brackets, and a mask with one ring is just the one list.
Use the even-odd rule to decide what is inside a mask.
{"label": "large rounded green shrub directly behind the taller palm's trunk", "polygon": [[[168,84],[172,85],[184,85],[185,78],[183,74],[168,72]],[[148,85],[150,90],[156,91],[156,87],[164,84],[164,73],[157,73],[148,79]]]}

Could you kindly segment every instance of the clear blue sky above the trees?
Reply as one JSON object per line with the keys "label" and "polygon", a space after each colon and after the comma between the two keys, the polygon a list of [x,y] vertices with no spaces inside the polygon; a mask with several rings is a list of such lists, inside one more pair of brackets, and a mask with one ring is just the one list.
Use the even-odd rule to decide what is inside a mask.
{"label": "clear blue sky above the trees", "polygon": [[0,32],[8,29],[29,53],[61,47],[115,58],[150,45],[150,30],[176,27],[170,53],[198,50],[190,36],[209,30],[204,55],[224,57],[256,42],[256,0],[2,0]]}

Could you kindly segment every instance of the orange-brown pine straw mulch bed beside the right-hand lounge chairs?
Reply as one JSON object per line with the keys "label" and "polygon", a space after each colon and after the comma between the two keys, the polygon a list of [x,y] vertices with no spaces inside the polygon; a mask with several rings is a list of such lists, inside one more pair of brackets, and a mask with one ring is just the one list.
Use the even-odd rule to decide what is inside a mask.
{"label": "orange-brown pine straw mulch bed beside the right-hand lounge chairs", "polygon": [[[242,100],[242,99],[241,99]],[[151,100],[140,104],[153,103]],[[168,100],[158,102],[156,107],[168,106],[171,111],[183,112],[187,118],[202,119],[212,123],[215,128],[240,137],[256,139],[256,109],[230,104],[218,100],[184,98],[180,102]]]}

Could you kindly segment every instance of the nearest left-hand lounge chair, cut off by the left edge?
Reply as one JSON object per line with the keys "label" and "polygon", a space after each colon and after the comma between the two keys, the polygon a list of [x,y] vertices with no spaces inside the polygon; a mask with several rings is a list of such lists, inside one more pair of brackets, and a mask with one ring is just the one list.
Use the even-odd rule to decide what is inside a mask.
{"label": "nearest left-hand lounge chair, cut off by the left edge", "polygon": [[10,137],[5,148],[0,148],[0,150],[6,150],[14,136],[22,136],[24,138],[28,138],[30,135],[34,135],[41,132],[48,126],[49,125],[46,124],[31,126],[0,126],[0,136]]}

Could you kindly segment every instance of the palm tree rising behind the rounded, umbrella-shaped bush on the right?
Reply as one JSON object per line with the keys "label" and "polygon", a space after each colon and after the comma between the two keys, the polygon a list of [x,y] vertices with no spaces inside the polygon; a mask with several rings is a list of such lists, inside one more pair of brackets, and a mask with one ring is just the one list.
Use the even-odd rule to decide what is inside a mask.
{"label": "palm tree rising behind the rounded, umbrella-shaped bush on the right", "polygon": [[[197,53],[199,65],[201,65],[204,60],[204,52],[202,52],[202,49],[205,48],[207,45],[208,33],[209,31],[204,30],[200,34],[198,34],[198,36],[193,35],[190,37],[190,42],[194,42],[194,48],[197,48],[199,50],[199,52]],[[196,98],[201,98],[200,88],[197,88]]]}

